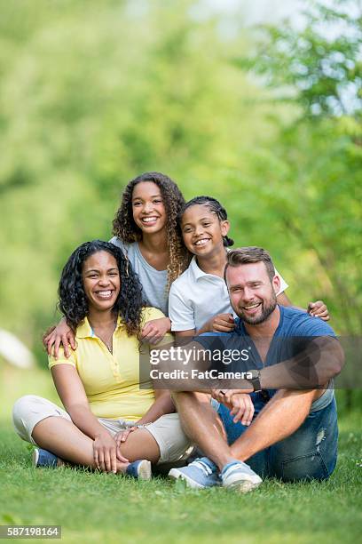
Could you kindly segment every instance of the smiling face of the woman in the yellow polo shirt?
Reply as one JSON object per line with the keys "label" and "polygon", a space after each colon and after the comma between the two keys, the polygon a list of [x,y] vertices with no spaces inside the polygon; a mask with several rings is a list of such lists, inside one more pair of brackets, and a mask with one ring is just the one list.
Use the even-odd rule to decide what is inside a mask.
{"label": "smiling face of the woman in the yellow polo shirt", "polygon": [[83,263],[83,288],[90,310],[114,307],[121,289],[117,261],[108,252],[93,253]]}

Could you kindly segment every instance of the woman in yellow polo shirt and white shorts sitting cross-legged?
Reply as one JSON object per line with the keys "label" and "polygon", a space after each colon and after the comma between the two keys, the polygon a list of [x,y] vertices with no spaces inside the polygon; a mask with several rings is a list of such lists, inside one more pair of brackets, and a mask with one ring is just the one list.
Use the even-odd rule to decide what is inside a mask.
{"label": "woman in yellow polo shirt and white shorts sitting cross-legged", "polygon": [[79,246],[60,278],[59,308],[77,344],[70,357],[49,357],[66,410],[31,395],[13,409],[20,437],[40,446],[35,466],[67,460],[148,479],[151,462],[185,456],[190,442],[169,392],[139,383],[139,335],[162,314],[144,306],[122,251],[99,240]]}

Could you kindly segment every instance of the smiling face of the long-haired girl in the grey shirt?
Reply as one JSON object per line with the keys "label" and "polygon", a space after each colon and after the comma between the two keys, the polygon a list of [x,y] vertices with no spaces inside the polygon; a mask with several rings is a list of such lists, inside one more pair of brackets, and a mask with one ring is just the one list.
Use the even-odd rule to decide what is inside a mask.
{"label": "smiling face of the long-haired girl in the grey shirt", "polygon": [[153,181],[141,181],[132,193],[133,219],[144,234],[154,234],[166,228],[167,214],[161,188]]}

